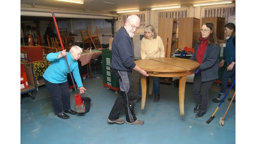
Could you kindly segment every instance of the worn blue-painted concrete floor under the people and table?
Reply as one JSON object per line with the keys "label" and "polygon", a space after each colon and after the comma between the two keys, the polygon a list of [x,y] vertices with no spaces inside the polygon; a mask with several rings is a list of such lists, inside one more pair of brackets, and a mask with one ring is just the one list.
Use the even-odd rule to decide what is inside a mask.
{"label": "worn blue-painted concrete floor under the people and table", "polygon": [[[134,75],[134,86],[138,92],[138,72]],[[54,113],[51,98],[45,86],[40,86],[35,99],[22,96],[20,104],[20,143],[236,143],[236,103],[232,103],[225,117],[225,125],[220,126],[220,118],[224,115],[229,101],[226,99],[214,115],[210,124],[206,121],[214,113],[219,103],[212,102],[218,95],[220,86],[212,84],[209,92],[209,105],[202,118],[195,118],[193,108],[196,104],[191,92],[192,83],[186,84],[184,111],[179,112],[179,88],[174,84],[161,84],[161,98],[153,102],[154,95],[147,95],[145,109],[141,102],[135,106],[136,116],[145,121],[141,126],[127,124],[109,124],[107,119],[115,102],[114,90],[103,86],[102,72],[93,73],[93,79],[83,80],[87,92],[82,97],[90,97],[90,111],[85,114],[69,115],[63,120]],[[76,110],[75,91],[70,93],[72,109]],[[232,97],[231,90],[227,98]],[[125,118],[124,111],[120,118]]]}

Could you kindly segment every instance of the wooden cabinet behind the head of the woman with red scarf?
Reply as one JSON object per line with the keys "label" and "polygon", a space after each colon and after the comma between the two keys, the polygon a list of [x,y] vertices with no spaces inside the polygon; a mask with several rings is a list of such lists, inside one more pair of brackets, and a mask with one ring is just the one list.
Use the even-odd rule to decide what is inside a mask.
{"label": "wooden cabinet behind the head of the woman with red scarf", "polygon": [[225,17],[202,17],[202,24],[204,22],[212,22],[215,28],[216,36],[219,40],[224,40],[224,26],[225,26]]}

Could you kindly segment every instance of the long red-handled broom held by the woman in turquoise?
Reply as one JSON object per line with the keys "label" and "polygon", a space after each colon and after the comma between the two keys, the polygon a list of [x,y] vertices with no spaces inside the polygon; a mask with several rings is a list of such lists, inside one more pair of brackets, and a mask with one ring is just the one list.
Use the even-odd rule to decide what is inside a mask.
{"label": "long red-handled broom held by the woman in turquoise", "polygon": [[[55,19],[53,10],[51,11],[51,13],[52,13],[52,18],[53,18],[53,20],[54,20],[54,24],[55,24],[56,31],[57,31],[57,33],[58,33],[58,37],[59,37],[59,40],[60,40],[61,48],[62,48],[62,50],[64,50],[64,46],[63,46],[63,43],[62,43],[62,40],[61,40],[61,36],[60,36],[60,31],[59,31],[59,29],[58,29],[58,24],[57,24],[57,22],[56,22],[56,19]],[[66,60],[66,62],[67,62],[67,66],[68,66],[67,56],[65,56],[65,60]],[[71,73],[71,70],[70,70],[69,66],[68,66],[68,70],[69,70],[70,77],[71,77],[71,79],[72,79],[72,83],[74,84],[74,89],[76,90],[76,85],[75,85],[75,83],[74,83],[74,79],[73,79],[73,77],[72,77],[72,73]],[[76,92],[77,92],[77,90],[76,90]],[[77,93],[77,94],[75,95],[75,101],[76,101],[76,112],[77,112],[77,113],[85,113],[84,102],[83,102],[82,97],[81,97],[81,95],[80,95],[79,93]]]}

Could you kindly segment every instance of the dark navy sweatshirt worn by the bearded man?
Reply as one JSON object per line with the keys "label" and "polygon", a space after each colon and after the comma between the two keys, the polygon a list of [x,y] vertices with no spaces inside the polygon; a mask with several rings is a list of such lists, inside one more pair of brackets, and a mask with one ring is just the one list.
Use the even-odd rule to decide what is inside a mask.
{"label": "dark navy sweatshirt worn by the bearded man", "polygon": [[131,71],[136,66],[134,63],[134,45],[132,38],[121,27],[113,39],[112,45],[111,68],[122,71]]}

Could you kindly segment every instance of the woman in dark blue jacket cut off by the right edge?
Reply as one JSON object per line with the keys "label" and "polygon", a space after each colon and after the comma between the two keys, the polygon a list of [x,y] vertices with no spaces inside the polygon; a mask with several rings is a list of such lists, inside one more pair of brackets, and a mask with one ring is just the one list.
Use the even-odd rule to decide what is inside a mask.
{"label": "woman in dark blue jacket cut off by the right edge", "polygon": [[[219,67],[223,67],[224,63],[227,63],[227,68],[225,68],[221,76],[220,93],[216,99],[212,99],[213,102],[221,102],[225,96],[229,78],[231,78],[232,83],[236,80],[236,25],[232,22],[225,24],[224,32],[227,36],[225,56],[220,61]],[[236,84],[234,84],[234,88],[236,88]],[[228,98],[228,100],[231,99]],[[233,102],[236,102],[236,100],[233,100]]]}

